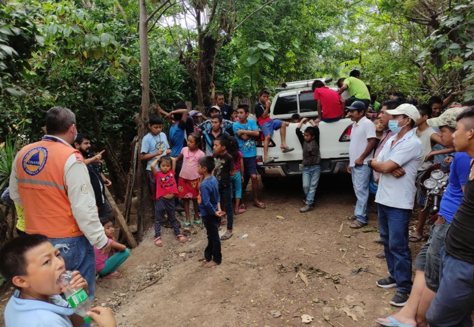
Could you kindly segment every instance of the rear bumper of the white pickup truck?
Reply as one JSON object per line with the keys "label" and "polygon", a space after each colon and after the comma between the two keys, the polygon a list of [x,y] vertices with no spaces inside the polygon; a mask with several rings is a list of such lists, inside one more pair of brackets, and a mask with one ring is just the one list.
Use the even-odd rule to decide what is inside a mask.
{"label": "rear bumper of the white pickup truck", "polygon": [[[290,177],[301,175],[301,161],[273,162],[269,165],[257,165],[257,171],[266,177]],[[322,174],[347,173],[349,158],[321,159]]]}

